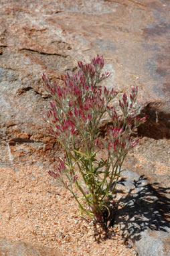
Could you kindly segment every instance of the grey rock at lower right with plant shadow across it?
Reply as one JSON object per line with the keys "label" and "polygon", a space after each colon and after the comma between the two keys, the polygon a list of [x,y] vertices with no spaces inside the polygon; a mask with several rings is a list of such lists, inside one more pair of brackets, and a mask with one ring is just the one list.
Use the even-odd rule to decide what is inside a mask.
{"label": "grey rock at lower right with plant shadow across it", "polygon": [[[118,188],[128,194],[120,197],[115,225],[124,239],[132,243],[139,256],[170,255],[169,189],[148,184],[144,176],[123,171]],[[157,186],[157,188],[155,188]]]}

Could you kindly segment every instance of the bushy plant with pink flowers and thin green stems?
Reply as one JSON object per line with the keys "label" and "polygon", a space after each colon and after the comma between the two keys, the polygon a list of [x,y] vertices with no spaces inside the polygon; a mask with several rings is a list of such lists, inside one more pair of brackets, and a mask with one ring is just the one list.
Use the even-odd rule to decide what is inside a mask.
{"label": "bushy plant with pink flowers and thin green stems", "polygon": [[[53,99],[46,122],[65,150],[65,158],[59,157],[57,170],[50,170],[49,174],[72,193],[81,212],[99,222],[115,190],[124,157],[138,142],[131,139],[131,134],[145,121],[145,117],[140,119],[135,112],[137,87],[132,88],[130,97],[124,93],[119,101],[122,115],[108,106],[117,92],[99,86],[110,76],[108,72],[101,73],[103,66],[100,56],[90,64],[78,62],[78,72],[72,76],[67,73],[64,86],[42,76]],[[106,113],[112,119],[112,129],[102,141],[98,131]],[[101,148],[106,149],[105,159],[97,157]]]}

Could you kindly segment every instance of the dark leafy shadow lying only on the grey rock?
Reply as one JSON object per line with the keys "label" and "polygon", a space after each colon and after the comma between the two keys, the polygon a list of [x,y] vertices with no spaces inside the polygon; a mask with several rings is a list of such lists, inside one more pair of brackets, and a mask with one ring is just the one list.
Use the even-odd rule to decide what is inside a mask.
{"label": "dark leafy shadow lying only on the grey rock", "polygon": [[[134,180],[133,188],[117,202],[115,225],[133,242],[139,241],[146,229],[168,232],[170,228],[170,188],[147,184],[146,180],[144,176]],[[125,183],[120,182],[121,186]]]}

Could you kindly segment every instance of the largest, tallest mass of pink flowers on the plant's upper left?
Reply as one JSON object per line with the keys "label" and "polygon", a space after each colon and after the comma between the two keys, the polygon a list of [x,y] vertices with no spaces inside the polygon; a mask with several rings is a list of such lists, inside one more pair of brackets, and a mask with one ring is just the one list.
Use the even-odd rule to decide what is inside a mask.
{"label": "largest, tallest mass of pink flowers on the plant's upper left", "polygon": [[[46,115],[46,121],[50,124],[50,133],[60,142],[68,143],[73,135],[80,135],[82,130],[96,129],[100,121],[100,113],[107,107],[108,101],[116,96],[112,89],[102,89],[98,83],[110,74],[100,74],[104,66],[102,57],[97,56],[91,64],[78,62],[80,70],[73,76],[66,74],[64,86],[55,82],[43,74],[42,80],[46,89],[52,94],[54,101],[50,102],[50,109]],[[105,101],[106,99],[106,101]]]}

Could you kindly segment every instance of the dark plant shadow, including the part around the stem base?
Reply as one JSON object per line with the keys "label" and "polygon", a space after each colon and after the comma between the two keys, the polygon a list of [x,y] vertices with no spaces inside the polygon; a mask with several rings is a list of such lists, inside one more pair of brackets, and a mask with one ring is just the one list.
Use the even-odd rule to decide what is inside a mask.
{"label": "dark plant shadow, including the part around the stem base", "polygon": [[[120,199],[115,200],[118,196]],[[144,176],[133,182],[122,178],[114,198],[110,198],[109,208],[110,214],[105,212],[104,222],[94,225],[97,243],[114,239],[115,228],[120,229],[124,242],[130,239],[133,243],[139,241],[147,229],[170,233],[170,188],[147,184]]]}

